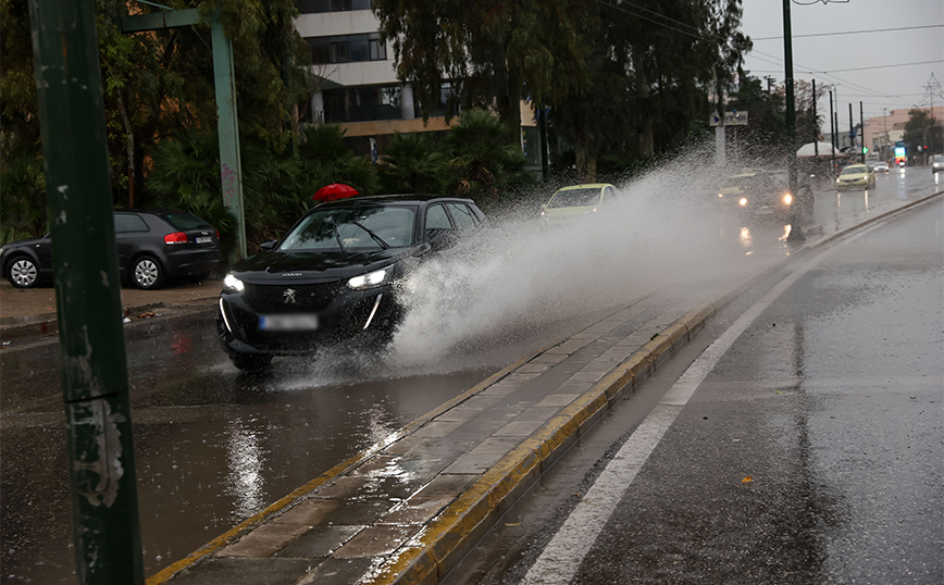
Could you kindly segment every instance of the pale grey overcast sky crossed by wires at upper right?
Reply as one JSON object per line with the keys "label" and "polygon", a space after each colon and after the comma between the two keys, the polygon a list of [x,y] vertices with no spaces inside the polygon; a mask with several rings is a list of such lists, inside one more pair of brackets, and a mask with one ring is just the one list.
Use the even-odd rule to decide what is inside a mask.
{"label": "pale grey overcast sky crossed by wires at upper right", "polygon": [[[781,83],[785,77],[783,1],[743,0],[743,7],[742,30],[754,39],[745,69],[752,76],[773,76]],[[934,80],[939,85],[933,89],[933,103],[944,105],[944,1],[847,0],[823,4],[821,0],[793,0],[790,14],[794,78],[815,78],[817,89],[834,84],[841,117],[848,112],[849,102],[857,121],[859,101],[864,102],[866,119],[882,115],[883,108],[927,108],[931,97],[926,86]],[[891,30],[894,28],[908,29]],[[835,34],[854,30],[879,32]],[[824,33],[830,35],[803,36]],[[909,64],[919,62],[923,64]],[[875,69],[848,71],[861,67]],[[829,112],[828,95],[818,108]]]}

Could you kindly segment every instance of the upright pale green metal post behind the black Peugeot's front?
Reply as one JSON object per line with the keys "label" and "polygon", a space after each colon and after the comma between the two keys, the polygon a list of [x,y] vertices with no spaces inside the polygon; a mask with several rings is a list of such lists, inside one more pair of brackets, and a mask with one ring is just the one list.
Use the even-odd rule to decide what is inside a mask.
{"label": "upright pale green metal post behind the black Peugeot's front", "polygon": [[239,122],[236,115],[236,75],[233,69],[233,41],[223,25],[213,17],[213,77],[216,86],[216,112],[220,133],[220,173],[223,179],[223,204],[236,216],[237,258],[246,258],[246,216],[243,212],[243,163],[239,157]]}

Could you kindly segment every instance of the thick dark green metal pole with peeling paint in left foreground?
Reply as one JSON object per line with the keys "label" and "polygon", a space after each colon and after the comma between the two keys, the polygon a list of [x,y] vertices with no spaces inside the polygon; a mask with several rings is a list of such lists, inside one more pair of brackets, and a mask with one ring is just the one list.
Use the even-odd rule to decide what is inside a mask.
{"label": "thick dark green metal pole with peeling paint in left foreground", "polygon": [[76,573],[144,583],[127,362],[91,0],[29,0]]}

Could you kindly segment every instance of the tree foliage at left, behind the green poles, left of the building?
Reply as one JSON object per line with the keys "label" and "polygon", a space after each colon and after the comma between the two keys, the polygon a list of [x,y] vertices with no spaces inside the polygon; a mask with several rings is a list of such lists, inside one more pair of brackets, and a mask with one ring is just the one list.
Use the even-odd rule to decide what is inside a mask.
{"label": "tree foliage at left, behind the green poles, left of the building", "polygon": [[[310,53],[294,27],[293,0],[167,0],[198,8],[198,25],[126,34],[128,11],[160,9],[124,0],[96,0],[105,130],[116,206],[149,204],[147,181],[156,145],[182,128],[214,133],[216,104],[208,26],[219,14],[233,39],[240,137],[268,150],[289,147],[291,107],[310,89]],[[0,172],[41,160],[27,0],[0,0]],[[246,165],[244,164],[244,167]],[[22,174],[22,173],[21,173]],[[219,191],[218,191],[219,194]],[[40,207],[40,206],[36,206]],[[45,216],[46,210],[40,210]],[[7,229],[4,213],[4,229]],[[40,222],[42,223],[42,222]]]}

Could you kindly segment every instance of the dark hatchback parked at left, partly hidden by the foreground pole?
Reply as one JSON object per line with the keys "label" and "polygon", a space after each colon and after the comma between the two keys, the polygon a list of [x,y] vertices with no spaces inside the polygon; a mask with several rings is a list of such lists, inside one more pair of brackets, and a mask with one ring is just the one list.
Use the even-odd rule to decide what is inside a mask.
{"label": "dark hatchback parked at left, partly hidden by the foreground pole", "polygon": [[[207,276],[222,262],[220,234],[186,211],[115,210],[119,273],[138,288],[159,288],[170,278]],[[13,286],[32,288],[52,282],[49,234],[3,246],[0,265]]]}

